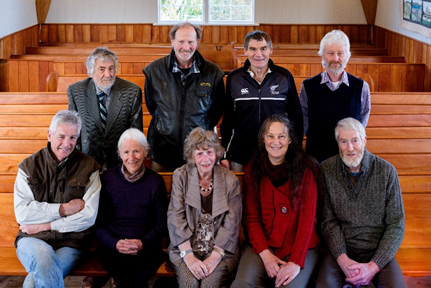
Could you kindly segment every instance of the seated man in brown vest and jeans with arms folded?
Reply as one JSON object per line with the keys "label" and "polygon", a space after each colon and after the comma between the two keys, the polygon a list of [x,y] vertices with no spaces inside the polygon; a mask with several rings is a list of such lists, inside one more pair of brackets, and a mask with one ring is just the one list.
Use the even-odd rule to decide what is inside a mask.
{"label": "seated man in brown vest and jeans with arms folded", "polygon": [[58,112],[48,129],[48,146],[18,165],[15,246],[28,272],[23,287],[64,287],[63,279],[91,243],[100,166],[75,149],[80,130],[77,112]]}

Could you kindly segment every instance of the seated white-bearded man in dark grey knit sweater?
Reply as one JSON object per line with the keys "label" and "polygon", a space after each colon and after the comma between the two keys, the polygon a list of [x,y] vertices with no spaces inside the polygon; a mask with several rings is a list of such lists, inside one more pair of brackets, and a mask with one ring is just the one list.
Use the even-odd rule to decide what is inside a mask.
{"label": "seated white-bearded man in dark grey knit sweater", "polygon": [[321,165],[321,229],[328,249],[316,287],[406,287],[394,259],[404,237],[397,171],[368,152],[358,120],[340,120],[335,138],[339,155]]}

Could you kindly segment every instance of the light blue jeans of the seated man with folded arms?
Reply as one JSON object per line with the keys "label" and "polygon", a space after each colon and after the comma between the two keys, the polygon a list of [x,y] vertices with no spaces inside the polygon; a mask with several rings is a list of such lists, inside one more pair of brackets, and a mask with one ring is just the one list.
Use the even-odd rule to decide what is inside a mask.
{"label": "light blue jeans of the seated man with folded arms", "polygon": [[54,251],[51,245],[33,237],[21,238],[16,254],[28,272],[23,288],[63,288],[63,279],[82,257],[82,251],[78,249],[62,247]]}

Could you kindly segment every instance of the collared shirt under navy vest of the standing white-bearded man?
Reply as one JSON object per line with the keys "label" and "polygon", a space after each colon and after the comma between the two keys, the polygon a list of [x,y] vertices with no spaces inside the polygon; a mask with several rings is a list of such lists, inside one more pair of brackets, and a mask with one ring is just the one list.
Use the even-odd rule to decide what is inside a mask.
{"label": "collared shirt under navy vest of the standing white-bearded man", "polygon": [[[325,70],[321,74],[322,80],[320,81],[320,84],[326,84],[326,86],[331,90],[335,91],[340,87],[342,83],[349,86],[349,80],[347,78],[347,72],[343,71],[343,74],[341,75],[341,81],[338,82],[337,86],[334,86],[334,84],[331,82],[331,79],[329,78],[328,72]],[[299,92],[299,102],[301,102],[302,107],[302,116],[304,119],[304,134],[307,135],[308,131],[308,96],[307,92],[305,91],[304,85],[301,85],[301,91]],[[360,122],[364,127],[367,127],[368,119],[370,117],[370,110],[371,110],[371,100],[370,100],[370,86],[367,82],[364,81],[364,85],[362,86],[361,91],[361,120]]]}

